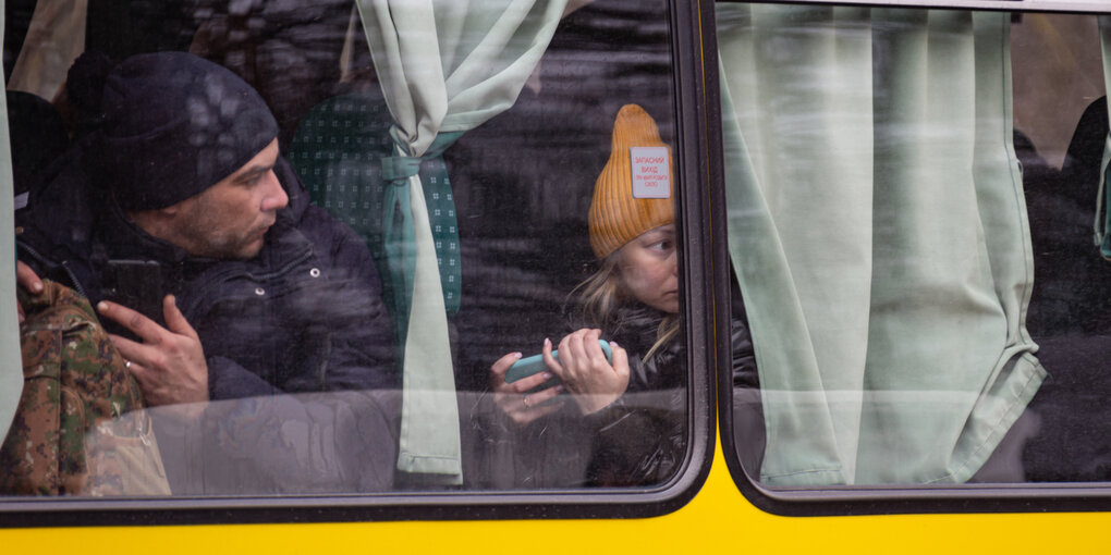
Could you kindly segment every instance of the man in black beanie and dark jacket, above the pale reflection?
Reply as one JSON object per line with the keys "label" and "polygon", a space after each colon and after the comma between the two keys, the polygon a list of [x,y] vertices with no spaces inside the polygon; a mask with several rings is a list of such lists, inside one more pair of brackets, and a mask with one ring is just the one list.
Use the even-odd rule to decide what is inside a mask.
{"label": "man in black beanie and dark jacket, above the pale reflection", "polygon": [[[71,97],[99,110],[32,194],[20,259],[118,325],[146,403],[398,389],[366,244],[309,203],[258,93],[183,52],[89,58]],[[151,274],[160,310],[106,299],[127,269]]]}

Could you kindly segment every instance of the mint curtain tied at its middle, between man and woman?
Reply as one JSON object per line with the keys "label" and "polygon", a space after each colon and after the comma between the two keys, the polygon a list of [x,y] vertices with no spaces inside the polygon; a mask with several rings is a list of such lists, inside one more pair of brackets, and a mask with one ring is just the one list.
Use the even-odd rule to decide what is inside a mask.
{"label": "mint curtain tied at its middle, between man and woman", "polygon": [[[398,468],[462,480],[459,414],[448,342],[444,290],[433,230],[417,174],[437,138],[473,129],[513,104],[551,40],[567,0],[358,0],[374,69],[396,122],[394,175],[408,191],[391,196],[388,218],[409,242],[411,268]],[[389,221],[389,220],[388,220]],[[387,229],[393,229],[387,224]],[[411,230],[411,231],[410,231]],[[410,235],[411,233],[411,235]],[[391,266],[397,268],[391,263]],[[404,294],[402,292],[396,292]]]}

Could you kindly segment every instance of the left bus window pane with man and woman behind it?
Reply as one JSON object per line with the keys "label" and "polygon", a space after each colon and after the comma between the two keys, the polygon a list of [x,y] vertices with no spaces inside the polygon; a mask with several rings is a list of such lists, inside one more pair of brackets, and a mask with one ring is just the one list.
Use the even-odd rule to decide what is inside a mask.
{"label": "left bus window pane with man and woman behind it", "polygon": [[678,473],[667,3],[358,4],[7,2],[28,273],[0,493]]}

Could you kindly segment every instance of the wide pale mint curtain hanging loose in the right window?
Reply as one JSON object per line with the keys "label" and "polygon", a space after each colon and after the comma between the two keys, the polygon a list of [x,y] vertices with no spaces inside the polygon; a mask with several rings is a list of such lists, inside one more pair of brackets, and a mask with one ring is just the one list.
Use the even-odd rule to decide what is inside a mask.
{"label": "wide pale mint curtain hanging loose in the right window", "polygon": [[1007,13],[719,4],[771,485],[972,476],[1045,372]]}

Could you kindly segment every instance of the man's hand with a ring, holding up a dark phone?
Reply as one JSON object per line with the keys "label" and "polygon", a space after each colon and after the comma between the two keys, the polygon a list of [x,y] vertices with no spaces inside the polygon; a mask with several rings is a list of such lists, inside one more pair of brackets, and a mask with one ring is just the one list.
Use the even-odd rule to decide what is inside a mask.
{"label": "man's hand with a ring, holding up a dark phone", "polygon": [[148,406],[208,401],[208,363],[200,337],[178,310],[173,295],[162,300],[167,327],[149,317],[108,301],[97,304],[106,317],[131,330],[142,340],[110,335],[127,359],[128,370],[139,382]]}

